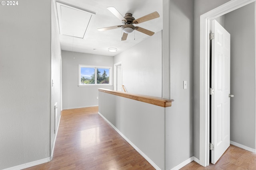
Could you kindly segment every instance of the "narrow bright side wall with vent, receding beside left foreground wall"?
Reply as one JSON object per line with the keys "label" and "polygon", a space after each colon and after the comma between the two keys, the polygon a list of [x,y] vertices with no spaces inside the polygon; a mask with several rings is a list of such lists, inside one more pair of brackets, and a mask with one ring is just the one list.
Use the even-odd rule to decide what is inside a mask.
{"label": "narrow bright side wall with vent, receding beside left foreground wall", "polygon": [[61,65],[61,49],[60,49],[60,38],[58,27],[56,23],[56,17],[54,13],[54,6],[52,2],[52,37],[51,37],[51,79],[53,80],[53,86],[51,86],[51,150],[53,149],[54,139],[56,137],[56,133],[54,134],[54,105],[58,103],[57,109],[57,125],[60,120],[60,84],[61,84],[61,76],[60,76],[60,65]]}

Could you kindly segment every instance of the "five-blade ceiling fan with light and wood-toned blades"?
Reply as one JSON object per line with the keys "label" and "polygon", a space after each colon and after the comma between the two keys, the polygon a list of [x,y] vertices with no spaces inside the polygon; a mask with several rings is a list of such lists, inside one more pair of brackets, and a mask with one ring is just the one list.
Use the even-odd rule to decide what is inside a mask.
{"label": "five-blade ceiling fan with light and wood-toned blades", "polygon": [[122,30],[124,31],[123,36],[122,36],[122,41],[127,39],[128,33],[132,33],[132,31],[137,30],[140,31],[144,34],[147,35],[154,35],[154,32],[148,30],[148,29],[144,29],[142,27],[138,27],[138,26],[134,26],[133,24],[138,24],[138,23],[142,23],[148,20],[153,20],[155,18],[160,17],[158,12],[152,12],[146,16],[143,16],[141,18],[138,18],[135,20],[134,17],[132,17],[132,14],[130,13],[126,13],[125,16],[122,16],[122,14],[120,14],[120,12],[118,12],[118,10],[116,10],[116,8],[110,6],[107,7],[107,9],[112,12],[112,14],[114,14],[118,19],[120,19],[122,21],[122,23],[124,25],[116,25],[116,26],[112,26],[112,27],[104,27],[104,28],[98,28],[98,31],[106,31],[109,29],[116,29],[116,28],[122,28]]}

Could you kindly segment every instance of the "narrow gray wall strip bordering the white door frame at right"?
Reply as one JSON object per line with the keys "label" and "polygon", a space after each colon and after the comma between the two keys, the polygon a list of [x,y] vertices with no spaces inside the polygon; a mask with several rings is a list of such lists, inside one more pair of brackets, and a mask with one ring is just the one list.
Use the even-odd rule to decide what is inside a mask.
{"label": "narrow gray wall strip bordering the white door frame at right", "polygon": [[194,156],[199,159],[199,124],[200,124],[200,15],[230,0],[194,0]]}

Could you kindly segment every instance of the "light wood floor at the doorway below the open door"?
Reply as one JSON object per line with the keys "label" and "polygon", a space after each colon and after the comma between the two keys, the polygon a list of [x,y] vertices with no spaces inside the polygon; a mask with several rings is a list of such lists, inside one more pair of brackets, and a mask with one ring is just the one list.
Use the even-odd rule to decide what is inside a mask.
{"label": "light wood floor at the doorway below the open door", "polygon": [[193,161],[180,170],[256,170],[256,154],[230,145],[215,165],[203,167]]}

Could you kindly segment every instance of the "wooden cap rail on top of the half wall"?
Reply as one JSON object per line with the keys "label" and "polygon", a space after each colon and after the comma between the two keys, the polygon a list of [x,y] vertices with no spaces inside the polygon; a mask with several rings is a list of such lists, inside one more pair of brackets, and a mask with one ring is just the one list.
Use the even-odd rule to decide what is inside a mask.
{"label": "wooden cap rail on top of the half wall", "polygon": [[132,100],[138,100],[140,102],[154,104],[156,106],[161,106],[161,107],[170,107],[170,106],[172,106],[172,102],[174,101],[172,99],[164,99],[164,98],[145,96],[145,95],[140,95],[140,94],[131,94],[131,93],[127,93],[127,92],[120,92],[120,91],[109,90],[109,89],[104,89],[104,88],[99,88],[99,91],[113,94],[116,96],[121,96],[124,98],[129,98]]}

